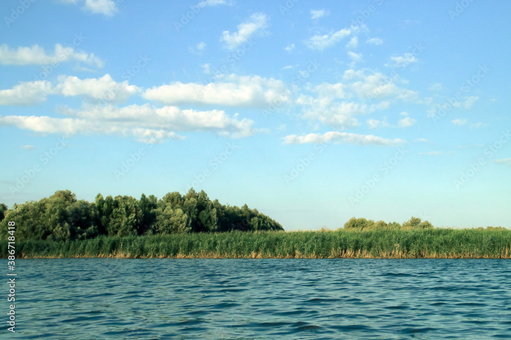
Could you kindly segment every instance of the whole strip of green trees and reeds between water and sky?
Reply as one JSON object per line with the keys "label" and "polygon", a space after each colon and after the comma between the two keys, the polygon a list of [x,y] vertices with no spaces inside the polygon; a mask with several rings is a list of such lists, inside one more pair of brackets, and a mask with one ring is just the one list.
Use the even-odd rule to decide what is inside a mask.
{"label": "whole strip of green trees and reeds between water and sky", "polygon": [[434,228],[412,217],[397,222],[352,218],[337,230],[284,231],[245,204],[222,205],[204,191],[98,194],[69,190],[49,198],[0,204],[0,256],[8,256],[15,222],[17,258],[511,258],[511,230]]}

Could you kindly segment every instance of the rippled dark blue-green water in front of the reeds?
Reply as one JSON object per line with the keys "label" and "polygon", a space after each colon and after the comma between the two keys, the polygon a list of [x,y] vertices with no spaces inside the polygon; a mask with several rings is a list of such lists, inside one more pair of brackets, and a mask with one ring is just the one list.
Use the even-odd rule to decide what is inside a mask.
{"label": "rippled dark blue-green water in front of the reeds", "polygon": [[[509,260],[84,258],[16,266],[17,332],[6,331],[2,298],[0,338],[511,338]],[[8,290],[4,283],[2,295]]]}

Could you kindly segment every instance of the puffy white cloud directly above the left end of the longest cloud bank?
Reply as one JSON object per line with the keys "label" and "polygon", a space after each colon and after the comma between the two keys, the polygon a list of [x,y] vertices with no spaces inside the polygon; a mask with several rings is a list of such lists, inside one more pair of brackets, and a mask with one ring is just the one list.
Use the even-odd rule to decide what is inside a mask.
{"label": "puffy white cloud directly above the left end of the longest cloud bank", "polygon": [[128,81],[115,82],[110,74],[101,78],[81,80],[76,76],[61,75],[58,77],[59,84],[55,87],[64,96],[84,95],[94,99],[104,99],[111,102],[124,102],[133,94],[142,89],[129,85]]}

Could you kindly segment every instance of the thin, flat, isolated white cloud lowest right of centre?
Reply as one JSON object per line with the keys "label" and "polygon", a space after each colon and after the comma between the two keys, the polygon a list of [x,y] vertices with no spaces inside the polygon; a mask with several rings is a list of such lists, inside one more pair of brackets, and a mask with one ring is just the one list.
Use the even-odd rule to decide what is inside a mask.
{"label": "thin, flat, isolated white cloud lowest right of centre", "polygon": [[289,135],[283,138],[284,144],[305,144],[305,143],[328,143],[335,144],[356,144],[356,145],[380,145],[397,146],[406,141],[402,139],[385,139],[373,135],[358,135],[346,132],[331,131],[324,134],[308,134],[306,136]]}

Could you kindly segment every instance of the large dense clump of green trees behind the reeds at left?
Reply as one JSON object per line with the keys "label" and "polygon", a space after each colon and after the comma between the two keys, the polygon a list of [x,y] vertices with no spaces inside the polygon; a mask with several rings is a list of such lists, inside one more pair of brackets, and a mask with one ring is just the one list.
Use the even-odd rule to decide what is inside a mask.
{"label": "large dense clump of green trees behind the reeds at left", "polygon": [[5,239],[8,221],[16,224],[16,240],[83,240],[100,235],[137,236],[230,230],[284,230],[280,223],[250,209],[246,204],[223,205],[211,201],[202,190],[187,194],[154,195],[137,200],[131,196],[98,194],[94,202],[77,200],[69,190],[48,198],[14,204],[0,204],[0,236]]}

